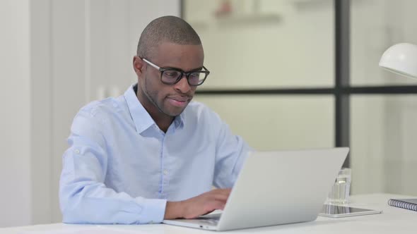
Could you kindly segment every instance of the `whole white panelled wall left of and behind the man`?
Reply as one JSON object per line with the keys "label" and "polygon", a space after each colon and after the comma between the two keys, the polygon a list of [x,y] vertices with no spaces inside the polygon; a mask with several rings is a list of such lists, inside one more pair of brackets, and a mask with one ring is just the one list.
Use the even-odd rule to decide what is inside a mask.
{"label": "whole white panelled wall left of and behind the man", "polygon": [[134,82],[139,35],[163,15],[179,16],[180,1],[0,1],[0,227],[61,221],[72,119]]}

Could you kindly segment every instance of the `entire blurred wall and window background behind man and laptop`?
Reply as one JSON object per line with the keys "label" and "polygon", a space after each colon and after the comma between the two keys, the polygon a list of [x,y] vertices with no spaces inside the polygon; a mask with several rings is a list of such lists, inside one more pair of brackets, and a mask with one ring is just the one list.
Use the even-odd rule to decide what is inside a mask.
{"label": "entire blurred wall and window background behind man and laptop", "polygon": [[135,82],[141,31],[164,15],[187,20],[203,42],[211,75],[195,99],[252,147],[348,146],[352,195],[417,195],[417,80],[378,67],[392,44],[417,44],[416,8],[413,0],[0,0],[0,227],[61,221],[72,119]]}

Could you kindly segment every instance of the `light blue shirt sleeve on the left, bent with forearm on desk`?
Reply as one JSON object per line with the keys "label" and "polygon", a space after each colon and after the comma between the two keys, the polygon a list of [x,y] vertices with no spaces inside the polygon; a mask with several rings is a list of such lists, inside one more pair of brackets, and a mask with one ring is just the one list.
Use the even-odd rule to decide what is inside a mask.
{"label": "light blue shirt sleeve on the left, bent with forearm on desk", "polygon": [[102,120],[81,110],[63,156],[59,204],[64,223],[160,223],[165,199],[131,197],[105,186],[107,152]]}

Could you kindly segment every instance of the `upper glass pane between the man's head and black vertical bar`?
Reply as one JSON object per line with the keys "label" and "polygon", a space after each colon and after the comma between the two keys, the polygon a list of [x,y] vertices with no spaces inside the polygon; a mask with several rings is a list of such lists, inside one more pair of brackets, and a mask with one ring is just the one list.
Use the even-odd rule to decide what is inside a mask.
{"label": "upper glass pane between the man's head and black vertical bar", "polygon": [[184,1],[211,71],[201,89],[334,85],[333,2]]}

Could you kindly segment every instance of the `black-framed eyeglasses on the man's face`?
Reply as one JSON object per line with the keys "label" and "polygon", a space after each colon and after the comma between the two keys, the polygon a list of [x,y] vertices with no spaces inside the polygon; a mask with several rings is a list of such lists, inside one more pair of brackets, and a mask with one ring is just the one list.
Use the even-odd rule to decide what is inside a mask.
{"label": "black-framed eyeglasses on the man's face", "polygon": [[142,60],[160,71],[160,80],[165,85],[174,85],[185,75],[185,78],[187,78],[187,82],[190,86],[199,86],[204,83],[207,75],[210,74],[209,70],[207,70],[204,66],[204,70],[192,70],[186,73],[184,70],[178,68],[160,68],[146,60],[146,58],[142,58]]}

